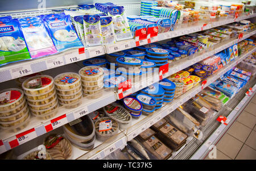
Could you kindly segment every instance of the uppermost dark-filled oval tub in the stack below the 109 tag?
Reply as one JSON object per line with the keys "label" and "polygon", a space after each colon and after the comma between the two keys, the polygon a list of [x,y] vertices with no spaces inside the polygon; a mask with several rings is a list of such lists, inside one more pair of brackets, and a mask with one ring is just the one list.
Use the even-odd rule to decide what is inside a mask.
{"label": "uppermost dark-filled oval tub in the stack below the 109 tag", "polygon": [[65,124],[63,130],[72,140],[84,144],[91,141],[95,135],[93,120],[87,115]]}

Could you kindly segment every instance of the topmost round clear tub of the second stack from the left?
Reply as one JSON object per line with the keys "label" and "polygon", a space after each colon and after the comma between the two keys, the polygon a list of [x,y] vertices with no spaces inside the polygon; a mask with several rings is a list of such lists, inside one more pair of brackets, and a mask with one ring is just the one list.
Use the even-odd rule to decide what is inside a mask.
{"label": "topmost round clear tub of the second stack from the left", "polygon": [[[51,82],[49,82],[48,84],[45,83],[47,85],[40,87],[40,88],[35,88],[35,89],[29,88],[28,82],[30,82],[32,80],[36,80],[36,79],[41,79],[41,81],[42,81],[42,78],[48,78],[44,82],[46,82],[46,81],[51,81]],[[53,78],[51,76],[46,76],[46,75],[30,77],[27,80],[25,80],[22,84],[22,88],[23,88],[24,92],[28,95],[40,95],[40,94],[46,93],[47,91],[51,90],[52,87],[54,87]]]}

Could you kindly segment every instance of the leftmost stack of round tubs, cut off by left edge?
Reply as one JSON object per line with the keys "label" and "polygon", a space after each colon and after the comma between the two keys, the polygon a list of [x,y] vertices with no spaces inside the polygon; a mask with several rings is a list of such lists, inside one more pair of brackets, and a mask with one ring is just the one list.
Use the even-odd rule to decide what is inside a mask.
{"label": "leftmost stack of round tubs, cut off by left edge", "polygon": [[24,93],[20,89],[5,89],[0,91],[0,126],[19,131],[27,126],[29,109]]}

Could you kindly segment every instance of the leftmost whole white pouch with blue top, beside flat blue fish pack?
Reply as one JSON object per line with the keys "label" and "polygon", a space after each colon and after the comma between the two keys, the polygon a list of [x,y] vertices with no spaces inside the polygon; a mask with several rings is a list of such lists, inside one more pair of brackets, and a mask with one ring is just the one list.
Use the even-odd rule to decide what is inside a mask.
{"label": "leftmost whole white pouch with blue top, beside flat blue fish pack", "polygon": [[86,46],[102,44],[101,20],[98,15],[84,15],[84,35]]}

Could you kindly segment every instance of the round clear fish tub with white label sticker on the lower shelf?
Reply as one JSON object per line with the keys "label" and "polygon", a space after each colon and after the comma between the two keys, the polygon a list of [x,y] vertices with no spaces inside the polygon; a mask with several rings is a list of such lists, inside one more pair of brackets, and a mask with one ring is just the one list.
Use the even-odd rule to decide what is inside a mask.
{"label": "round clear fish tub with white label sticker on the lower shelf", "polygon": [[114,119],[103,117],[94,123],[97,140],[106,141],[118,134],[119,124]]}

